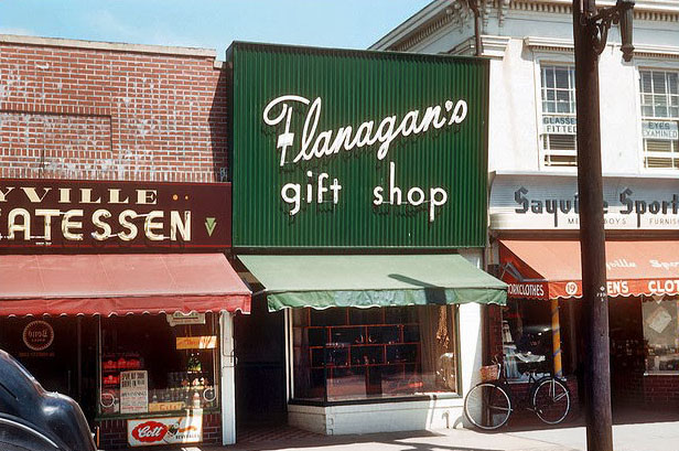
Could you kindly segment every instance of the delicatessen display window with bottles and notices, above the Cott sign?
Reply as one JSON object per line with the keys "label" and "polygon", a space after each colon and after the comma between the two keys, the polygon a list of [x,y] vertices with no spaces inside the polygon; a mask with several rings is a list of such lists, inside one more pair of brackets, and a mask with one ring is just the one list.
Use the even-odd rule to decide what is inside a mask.
{"label": "delicatessen display window with bottles and notices, above the Cott sign", "polygon": [[218,407],[217,319],[193,316],[100,320],[99,415]]}

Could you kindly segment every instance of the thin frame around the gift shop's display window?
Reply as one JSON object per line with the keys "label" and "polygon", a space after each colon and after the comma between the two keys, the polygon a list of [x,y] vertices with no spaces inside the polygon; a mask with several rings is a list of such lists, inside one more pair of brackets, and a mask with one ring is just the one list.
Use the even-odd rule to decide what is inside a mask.
{"label": "thin frame around the gift shop's display window", "polygon": [[[403,305],[406,308],[414,308],[417,305]],[[332,406],[352,406],[352,405],[370,405],[370,404],[390,404],[390,402],[408,402],[408,401],[422,401],[422,400],[435,400],[435,399],[462,399],[463,398],[463,374],[462,374],[462,358],[460,354],[460,305],[446,304],[439,307],[448,307],[453,313],[452,326],[454,327],[453,337],[453,352],[455,353],[455,391],[429,391],[413,395],[395,395],[391,397],[366,397],[355,399],[328,399],[327,387],[324,386],[323,398],[299,398],[295,397],[294,387],[294,319],[293,314],[289,314],[289,321],[287,322],[287,337],[288,337],[288,352],[289,352],[289,365],[288,365],[288,404],[297,406],[313,406],[313,407],[332,407]],[[310,308],[305,308],[310,309]],[[342,308],[352,309],[352,308]],[[387,309],[387,308],[379,308]],[[363,310],[363,309],[362,309]],[[327,377],[325,383],[327,384]]]}

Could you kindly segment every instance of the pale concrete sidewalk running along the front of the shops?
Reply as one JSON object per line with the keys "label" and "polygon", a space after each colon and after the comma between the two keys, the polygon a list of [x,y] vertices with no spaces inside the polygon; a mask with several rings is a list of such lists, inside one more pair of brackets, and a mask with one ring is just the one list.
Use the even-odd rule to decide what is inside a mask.
{"label": "pale concrete sidewalk running along the front of the shops", "polygon": [[[294,428],[263,428],[242,434],[233,447],[184,447],[184,451],[585,451],[582,419],[567,427],[543,428],[525,422],[497,433],[467,429],[320,436]],[[613,427],[615,451],[679,451],[679,412],[636,410],[617,415]],[[176,448],[174,449],[176,451]]]}

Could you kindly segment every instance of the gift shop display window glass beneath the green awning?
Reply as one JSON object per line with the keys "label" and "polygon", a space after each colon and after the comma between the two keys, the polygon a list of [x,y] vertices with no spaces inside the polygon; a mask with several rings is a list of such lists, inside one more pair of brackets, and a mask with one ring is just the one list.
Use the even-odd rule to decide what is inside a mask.
{"label": "gift shop display window glass beneath the green awning", "polygon": [[457,393],[456,308],[293,311],[294,397]]}

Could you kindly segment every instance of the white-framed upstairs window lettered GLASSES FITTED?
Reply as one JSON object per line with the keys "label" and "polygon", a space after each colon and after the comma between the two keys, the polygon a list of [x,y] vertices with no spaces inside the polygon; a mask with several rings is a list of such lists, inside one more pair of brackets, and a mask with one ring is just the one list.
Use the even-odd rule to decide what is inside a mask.
{"label": "white-framed upstairs window lettered GLASSES FITTED", "polygon": [[540,95],[542,165],[575,167],[578,164],[575,67],[540,65]]}

